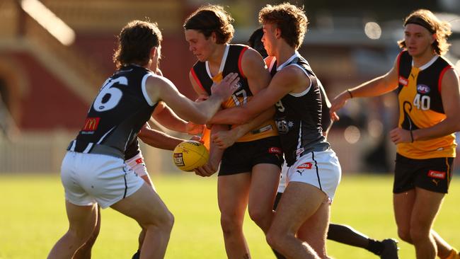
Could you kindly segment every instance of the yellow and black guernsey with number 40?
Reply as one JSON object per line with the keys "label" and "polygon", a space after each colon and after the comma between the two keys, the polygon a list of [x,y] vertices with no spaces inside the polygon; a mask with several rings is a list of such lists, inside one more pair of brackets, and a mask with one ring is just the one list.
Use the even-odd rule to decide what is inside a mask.
{"label": "yellow and black guernsey with number 40", "polygon": [[[432,127],[446,118],[442,106],[442,76],[452,68],[444,57],[435,56],[422,67],[413,67],[407,51],[398,56],[399,127],[408,130]],[[398,154],[410,159],[455,157],[455,135],[413,143],[399,143]]]}

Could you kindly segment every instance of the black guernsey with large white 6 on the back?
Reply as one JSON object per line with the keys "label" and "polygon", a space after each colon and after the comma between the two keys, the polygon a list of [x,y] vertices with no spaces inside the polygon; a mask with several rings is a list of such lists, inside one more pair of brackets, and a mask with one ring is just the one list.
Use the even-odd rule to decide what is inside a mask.
{"label": "black guernsey with large white 6 on the back", "polygon": [[127,146],[137,138],[157,103],[146,93],[153,72],[130,65],[110,76],[88,110],[84,126],[68,150],[107,154],[125,159]]}

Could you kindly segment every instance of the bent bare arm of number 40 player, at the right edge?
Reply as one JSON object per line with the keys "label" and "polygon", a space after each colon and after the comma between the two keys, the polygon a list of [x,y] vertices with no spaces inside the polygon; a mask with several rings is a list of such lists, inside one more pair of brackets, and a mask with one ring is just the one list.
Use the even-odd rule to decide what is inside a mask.
{"label": "bent bare arm of number 40 player, at the right edge", "polygon": [[[396,144],[418,140],[435,139],[460,131],[460,91],[459,75],[454,69],[446,71],[442,77],[441,96],[442,107],[446,118],[432,127],[410,131],[396,128],[391,130],[390,137]],[[413,139],[412,139],[413,138]]]}

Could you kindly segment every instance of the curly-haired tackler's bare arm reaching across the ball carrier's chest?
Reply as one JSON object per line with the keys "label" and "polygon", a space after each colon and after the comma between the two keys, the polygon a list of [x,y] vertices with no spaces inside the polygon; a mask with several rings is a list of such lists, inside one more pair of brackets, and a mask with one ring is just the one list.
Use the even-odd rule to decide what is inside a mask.
{"label": "curly-haired tackler's bare arm reaching across the ball carrier's chest", "polygon": [[250,102],[221,110],[214,115],[212,122],[221,124],[243,124],[264,110],[272,108],[287,93],[301,93],[310,85],[310,79],[301,69],[289,66],[273,76],[267,88],[256,94]]}

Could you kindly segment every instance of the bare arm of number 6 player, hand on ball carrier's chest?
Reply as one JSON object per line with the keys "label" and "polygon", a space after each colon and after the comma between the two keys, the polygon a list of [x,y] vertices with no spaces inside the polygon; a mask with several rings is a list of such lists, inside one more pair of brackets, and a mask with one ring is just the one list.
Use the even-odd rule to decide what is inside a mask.
{"label": "bare arm of number 6 player, hand on ball carrier's chest", "polygon": [[227,75],[217,87],[212,88],[212,96],[201,103],[183,96],[171,81],[161,76],[147,79],[146,92],[152,101],[163,100],[183,119],[205,124],[220,108],[222,101],[231,96],[238,80],[237,74]]}

